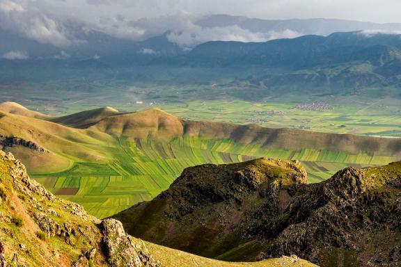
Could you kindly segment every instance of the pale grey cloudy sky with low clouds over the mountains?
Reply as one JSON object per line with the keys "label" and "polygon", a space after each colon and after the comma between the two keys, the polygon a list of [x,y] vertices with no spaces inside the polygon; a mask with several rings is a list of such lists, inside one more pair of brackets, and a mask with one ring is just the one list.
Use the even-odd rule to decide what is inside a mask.
{"label": "pale grey cloudy sky with low clouds over the mountains", "polygon": [[80,42],[65,22],[87,24],[91,29],[133,40],[178,29],[182,33],[169,38],[190,46],[214,39],[262,41],[301,34],[250,33],[237,26],[205,30],[194,24],[198,15],[384,23],[401,22],[400,10],[401,0],[0,0],[0,27],[58,47]]}

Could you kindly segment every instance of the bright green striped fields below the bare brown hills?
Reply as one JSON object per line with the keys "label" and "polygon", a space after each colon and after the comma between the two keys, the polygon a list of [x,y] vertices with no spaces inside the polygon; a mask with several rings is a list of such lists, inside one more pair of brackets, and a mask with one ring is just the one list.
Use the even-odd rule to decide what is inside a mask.
{"label": "bright green striped fields below the bare brown hills", "polygon": [[347,154],[327,150],[262,149],[233,140],[197,137],[173,138],[169,142],[118,139],[111,147],[115,160],[108,164],[74,163],[72,168],[53,174],[33,174],[56,195],[82,204],[88,212],[104,218],[141,201],[151,200],[180,175],[184,168],[204,163],[235,163],[260,156],[298,159],[308,171],[309,181],[331,177],[337,170],[354,165],[382,165],[389,156]]}

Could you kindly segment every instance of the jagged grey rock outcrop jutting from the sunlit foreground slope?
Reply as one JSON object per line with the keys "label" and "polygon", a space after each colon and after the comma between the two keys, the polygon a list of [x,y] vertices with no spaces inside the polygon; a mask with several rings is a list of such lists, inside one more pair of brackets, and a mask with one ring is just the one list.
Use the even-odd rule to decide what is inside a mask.
{"label": "jagged grey rock outcrop jutting from the sunlit foreground slope", "polygon": [[[123,224],[118,220],[106,219],[102,221],[104,247],[111,266],[141,267],[160,266],[152,256],[142,250],[143,245],[134,243],[124,231]],[[140,254],[136,252],[140,251]]]}

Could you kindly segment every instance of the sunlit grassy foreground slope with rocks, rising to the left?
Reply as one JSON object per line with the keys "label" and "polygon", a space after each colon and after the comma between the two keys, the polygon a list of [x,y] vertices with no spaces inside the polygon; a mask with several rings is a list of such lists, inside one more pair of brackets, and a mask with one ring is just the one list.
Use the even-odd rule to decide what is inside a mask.
{"label": "sunlit grassy foreground slope with rocks, rising to the left", "polygon": [[291,257],[232,264],[143,243],[117,220],[99,220],[55,197],[1,150],[0,181],[1,266],[315,266]]}

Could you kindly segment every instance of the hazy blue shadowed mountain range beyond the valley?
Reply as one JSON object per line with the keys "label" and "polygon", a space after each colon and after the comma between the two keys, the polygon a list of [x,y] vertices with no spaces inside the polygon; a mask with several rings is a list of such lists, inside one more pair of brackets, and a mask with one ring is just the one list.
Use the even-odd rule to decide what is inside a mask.
{"label": "hazy blue shadowed mountain range beyond the valley", "polygon": [[[26,43],[18,38],[7,44],[6,50]],[[91,33],[88,38],[72,51],[56,53],[46,47],[38,53],[46,51],[47,56],[23,60],[3,57],[1,79],[45,81],[82,76],[86,81],[109,79],[145,84],[217,82],[219,87],[232,88],[232,97],[247,100],[299,91],[399,97],[399,33],[354,31],[268,42],[212,41],[190,51],[170,42],[167,34],[142,42],[116,40],[103,33]],[[16,68],[19,72],[13,71]],[[245,89],[251,93],[244,93]],[[219,95],[214,90],[217,89],[205,97]]]}

